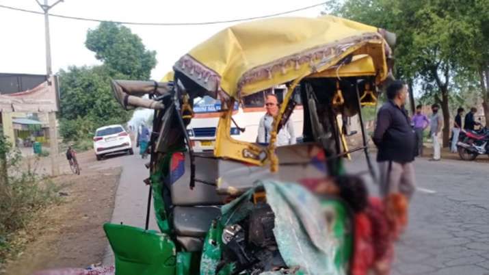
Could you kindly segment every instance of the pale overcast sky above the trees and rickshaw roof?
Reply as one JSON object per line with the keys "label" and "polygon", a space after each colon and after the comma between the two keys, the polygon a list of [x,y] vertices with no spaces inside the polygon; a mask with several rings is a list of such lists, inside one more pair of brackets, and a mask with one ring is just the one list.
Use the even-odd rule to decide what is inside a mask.
{"label": "pale overcast sky above the trees and rickshaw roof", "polygon": [[[55,0],[49,0],[49,4],[54,2]],[[261,16],[317,3],[321,3],[321,0],[64,0],[50,13],[111,21],[182,23]],[[0,5],[42,11],[35,0],[0,0]],[[321,10],[323,7],[316,7],[289,16],[314,17],[318,16]],[[54,73],[70,65],[98,64],[94,53],[84,45],[87,30],[94,29],[98,23],[53,16],[49,18],[49,23]],[[159,80],[189,49],[233,24],[184,27],[127,25],[127,27],[142,38],[147,49],[157,51],[158,64],[151,76]],[[0,26],[0,73],[44,74],[46,72],[44,16],[0,8]]]}

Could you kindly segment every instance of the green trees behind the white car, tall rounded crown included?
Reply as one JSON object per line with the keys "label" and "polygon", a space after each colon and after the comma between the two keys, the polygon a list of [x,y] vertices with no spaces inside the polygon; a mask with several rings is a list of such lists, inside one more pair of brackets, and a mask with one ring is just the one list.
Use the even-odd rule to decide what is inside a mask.
{"label": "green trees behind the white car, tall rounded crown included", "polygon": [[68,140],[90,135],[98,127],[127,122],[126,112],[111,92],[111,79],[147,80],[156,66],[155,51],[148,51],[131,30],[116,23],[101,23],[89,30],[85,45],[101,66],[70,66],[60,70],[60,133]]}

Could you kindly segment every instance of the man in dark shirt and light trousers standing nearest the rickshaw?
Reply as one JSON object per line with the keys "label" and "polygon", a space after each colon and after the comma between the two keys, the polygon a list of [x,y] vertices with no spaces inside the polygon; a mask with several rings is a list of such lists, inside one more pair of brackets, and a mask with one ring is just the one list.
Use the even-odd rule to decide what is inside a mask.
{"label": "man in dark shirt and light trousers standing nearest the rickshaw", "polygon": [[379,109],[373,142],[378,147],[380,194],[414,193],[415,135],[404,104],[408,88],[403,81],[394,81],[387,88],[388,101]]}

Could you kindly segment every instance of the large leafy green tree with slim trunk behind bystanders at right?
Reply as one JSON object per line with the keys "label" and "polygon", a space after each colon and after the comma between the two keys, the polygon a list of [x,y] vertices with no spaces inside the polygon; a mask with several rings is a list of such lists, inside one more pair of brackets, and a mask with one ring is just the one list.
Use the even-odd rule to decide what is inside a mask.
{"label": "large leafy green tree with slim trunk behind bystanders at right", "polygon": [[442,107],[444,146],[448,146],[451,125],[453,77],[473,51],[472,41],[477,36],[470,5],[462,0],[334,0],[334,13],[397,34],[395,75],[408,83],[419,79],[423,86],[436,88],[432,94]]}

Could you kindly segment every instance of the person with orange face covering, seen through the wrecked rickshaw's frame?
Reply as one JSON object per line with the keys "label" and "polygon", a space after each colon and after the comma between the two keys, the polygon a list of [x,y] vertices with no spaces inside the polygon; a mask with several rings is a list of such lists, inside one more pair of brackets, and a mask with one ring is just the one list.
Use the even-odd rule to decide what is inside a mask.
{"label": "person with orange face covering, seen through the wrecked rickshaw's frame", "polygon": [[[270,133],[274,127],[274,117],[278,114],[278,100],[275,94],[267,94],[267,99],[265,101],[265,108],[267,113],[260,120],[258,127],[258,142],[259,143],[269,143]],[[278,131],[277,134],[277,146],[295,144],[295,133],[293,131],[293,122],[291,118],[289,121]]]}

